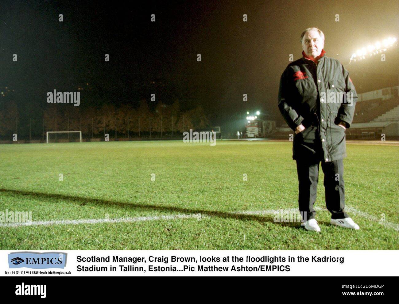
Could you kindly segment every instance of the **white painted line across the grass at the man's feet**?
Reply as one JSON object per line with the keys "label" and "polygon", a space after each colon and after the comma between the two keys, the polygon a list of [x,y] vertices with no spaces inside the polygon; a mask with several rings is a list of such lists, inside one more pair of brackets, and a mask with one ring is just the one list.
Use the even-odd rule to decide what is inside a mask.
{"label": "white painted line across the grass at the man's feet", "polygon": [[[315,207],[316,211],[328,211],[326,208]],[[298,212],[298,209],[267,209],[267,210],[255,210],[255,211],[237,211],[230,212],[230,214],[236,215],[264,215],[264,214],[275,214],[275,212]],[[391,223],[388,221],[381,221],[377,216],[372,216],[366,212],[359,211],[352,207],[346,207],[348,212],[357,214],[363,218],[371,220],[373,222],[378,222],[379,224],[395,229],[399,231],[399,224]],[[154,221],[154,220],[175,220],[180,218],[196,218],[200,220],[201,218],[209,217],[209,215],[203,214],[175,214],[175,215],[164,215],[164,216],[141,216],[137,218],[100,218],[100,219],[82,219],[82,220],[55,220],[55,221],[37,221],[30,223],[0,223],[0,227],[18,227],[18,226],[51,226],[51,225],[78,225],[78,224],[101,224],[101,223],[131,223],[131,222],[143,222],[143,221]]]}

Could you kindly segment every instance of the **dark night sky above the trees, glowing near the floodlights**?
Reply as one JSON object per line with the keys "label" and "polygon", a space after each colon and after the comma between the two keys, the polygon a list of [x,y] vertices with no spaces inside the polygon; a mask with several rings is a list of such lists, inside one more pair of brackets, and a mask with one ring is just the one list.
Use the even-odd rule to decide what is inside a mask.
{"label": "dark night sky above the trees, glowing near the floodlights", "polygon": [[136,105],[155,93],[187,109],[201,104],[214,124],[247,110],[278,117],[279,78],[289,54],[302,56],[304,29],[322,29],[326,55],[345,65],[399,28],[398,1],[0,2],[1,85],[32,113],[46,92],[89,82],[99,102]]}

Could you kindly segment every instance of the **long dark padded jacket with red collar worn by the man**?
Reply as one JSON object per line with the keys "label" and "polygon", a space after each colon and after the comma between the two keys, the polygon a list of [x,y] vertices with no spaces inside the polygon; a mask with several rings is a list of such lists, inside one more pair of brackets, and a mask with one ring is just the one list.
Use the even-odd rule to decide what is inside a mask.
{"label": "long dark padded jacket with red collar worn by the man", "polygon": [[[348,71],[324,53],[316,65],[302,52],[303,57],[290,63],[280,78],[282,116],[294,131],[300,124],[306,127],[294,135],[292,158],[296,160],[317,157],[330,162],[347,156],[345,130],[338,124],[350,127],[358,96]],[[348,92],[345,102],[343,92]]]}

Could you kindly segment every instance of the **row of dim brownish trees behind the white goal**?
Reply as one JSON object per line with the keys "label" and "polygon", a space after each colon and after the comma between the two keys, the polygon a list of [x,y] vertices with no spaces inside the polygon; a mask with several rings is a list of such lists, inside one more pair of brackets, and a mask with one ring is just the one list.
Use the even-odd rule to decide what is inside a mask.
{"label": "row of dim brownish trees behind the white goal", "polygon": [[153,110],[146,100],[141,100],[136,108],[128,104],[47,104],[41,117],[20,114],[15,102],[3,104],[0,140],[10,140],[14,133],[20,139],[42,139],[46,131],[82,131],[85,138],[99,138],[107,133],[110,137],[163,137],[210,126],[201,106],[182,111],[178,101],[170,105],[160,102]]}

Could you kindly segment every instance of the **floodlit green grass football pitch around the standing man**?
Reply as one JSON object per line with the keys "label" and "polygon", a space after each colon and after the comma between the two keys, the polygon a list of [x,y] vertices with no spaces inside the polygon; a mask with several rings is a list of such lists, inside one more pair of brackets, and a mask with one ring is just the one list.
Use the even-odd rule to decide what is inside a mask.
{"label": "floodlit green grass football pitch around the standing man", "polygon": [[44,222],[0,226],[0,249],[399,249],[399,147],[347,152],[346,206],[360,230],[330,226],[320,167],[312,233],[273,220],[271,210],[298,208],[291,142],[0,145],[0,211]]}

